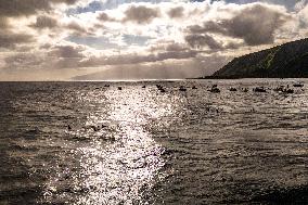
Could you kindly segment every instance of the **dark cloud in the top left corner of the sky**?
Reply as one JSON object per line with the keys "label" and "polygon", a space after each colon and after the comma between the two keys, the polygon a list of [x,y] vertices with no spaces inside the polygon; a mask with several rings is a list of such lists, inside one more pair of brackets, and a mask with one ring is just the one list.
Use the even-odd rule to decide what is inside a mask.
{"label": "dark cloud in the top left corner of the sky", "polygon": [[0,16],[31,15],[37,11],[49,11],[52,3],[73,4],[78,0],[0,0]]}

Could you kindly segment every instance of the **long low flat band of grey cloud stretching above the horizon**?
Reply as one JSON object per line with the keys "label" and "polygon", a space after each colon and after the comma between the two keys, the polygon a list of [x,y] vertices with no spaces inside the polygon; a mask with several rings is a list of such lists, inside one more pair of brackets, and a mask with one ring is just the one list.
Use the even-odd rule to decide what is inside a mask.
{"label": "long low flat band of grey cloud stretching above the horizon", "polygon": [[[134,65],[143,63],[164,62],[165,60],[189,60],[198,54],[189,49],[180,50],[170,48],[170,51],[162,51],[157,54],[130,53],[123,55],[102,55],[87,57],[82,54],[84,47],[80,46],[56,46],[47,47],[48,50],[39,55],[29,53],[16,53],[5,59],[7,68],[31,68],[40,65],[43,68],[72,68],[72,67],[100,67],[106,65]],[[47,64],[47,62],[49,62]]]}

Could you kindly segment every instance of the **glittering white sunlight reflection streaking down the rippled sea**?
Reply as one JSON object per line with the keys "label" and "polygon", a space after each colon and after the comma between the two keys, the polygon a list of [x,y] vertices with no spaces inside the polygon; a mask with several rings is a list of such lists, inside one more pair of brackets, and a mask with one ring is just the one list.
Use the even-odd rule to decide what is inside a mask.
{"label": "glittering white sunlight reflection streaking down the rippled sea", "polygon": [[[76,132],[80,139],[90,140],[70,144],[77,146],[73,157],[78,162],[67,170],[68,192],[57,193],[63,185],[59,183],[63,180],[61,174],[50,180],[47,190],[66,202],[69,194],[78,195],[78,201],[72,204],[146,204],[153,197],[151,189],[165,176],[159,172],[165,165],[164,148],[155,142],[149,128],[153,121],[171,115],[177,104],[167,95],[163,103],[153,91],[133,86],[123,91],[107,90],[104,97],[90,97],[88,102],[97,110],[89,114],[86,126],[104,123],[108,127],[98,132],[84,129]],[[101,102],[105,106],[98,107],[100,101],[107,104]]]}

